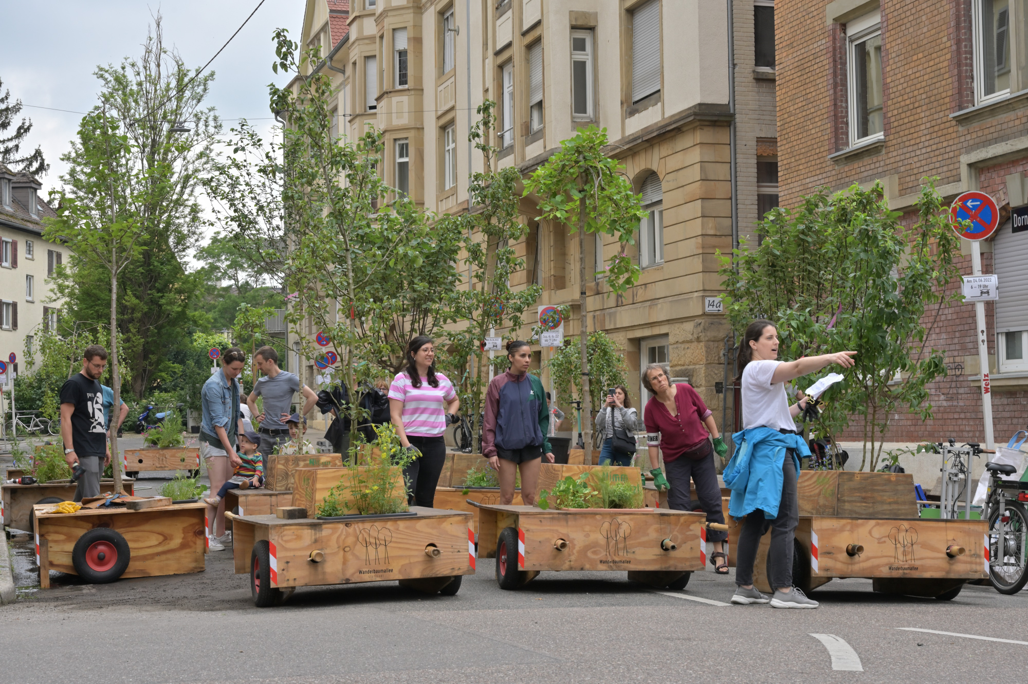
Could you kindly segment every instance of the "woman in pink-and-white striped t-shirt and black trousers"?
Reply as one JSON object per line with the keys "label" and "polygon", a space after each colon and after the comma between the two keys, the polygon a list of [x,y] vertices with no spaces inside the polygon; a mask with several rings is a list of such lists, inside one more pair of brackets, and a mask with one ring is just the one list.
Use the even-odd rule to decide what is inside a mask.
{"label": "woman in pink-and-white striped t-shirt and black trousers", "polygon": [[453,383],[433,364],[436,348],[432,338],[419,335],[407,345],[407,366],[396,374],[389,388],[389,408],[400,444],[420,452],[403,469],[410,505],[432,507],[436,485],[446,460],[443,430],[458,419],[461,401]]}

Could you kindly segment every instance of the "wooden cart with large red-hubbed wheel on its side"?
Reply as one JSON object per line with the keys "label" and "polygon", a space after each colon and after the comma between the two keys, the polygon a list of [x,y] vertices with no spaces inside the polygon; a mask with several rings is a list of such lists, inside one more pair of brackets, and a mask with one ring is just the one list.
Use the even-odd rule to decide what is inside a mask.
{"label": "wooden cart with large red-hubbed wheel on its side", "polygon": [[35,509],[36,562],[39,585],[49,588],[50,570],[81,575],[91,583],[120,577],[153,577],[204,570],[207,550],[201,502],[130,510],[124,507],[49,512],[53,505]]}

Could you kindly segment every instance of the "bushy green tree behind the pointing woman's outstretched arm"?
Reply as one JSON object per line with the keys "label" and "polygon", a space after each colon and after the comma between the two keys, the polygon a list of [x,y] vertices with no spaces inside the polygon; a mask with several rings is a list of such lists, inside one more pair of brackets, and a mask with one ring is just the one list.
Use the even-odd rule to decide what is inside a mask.
{"label": "bushy green tree behind the pointing woman's outstretched arm", "polygon": [[846,379],[824,394],[821,420],[835,432],[859,416],[860,469],[869,456],[870,469],[877,467],[880,435],[900,407],[931,417],[925,387],[946,375],[945,351],[927,340],[943,307],[960,299],[945,294],[959,276],[959,242],[934,179],[917,206],[916,222],[906,226],[888,210],[880,183],[834,195],[824,188],[795,210],[769,213],[760,246],[723,258],[725,311],[736,333],[765,317],[778,328],[785,360],[857,352]]}

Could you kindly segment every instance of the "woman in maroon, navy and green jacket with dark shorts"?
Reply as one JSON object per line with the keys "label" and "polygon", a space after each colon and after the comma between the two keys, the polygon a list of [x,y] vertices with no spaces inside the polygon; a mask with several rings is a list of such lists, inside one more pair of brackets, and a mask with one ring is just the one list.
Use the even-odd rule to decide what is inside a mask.
{"label": "woman in maroon, navy and green jacket with dark shorts", "polygon": [[514,484],[521,470],[521,500],[526,506],[536,503],[539,491],[539,467],[553,462],[553,450],[546,439],[550,412],[539,378],[528,373],[531,348],[527,342],[507,343],[511,367],[492,378],[485,392],[485,420],[482,430],[482,456],[500,473],[500,503],[514,501]]}

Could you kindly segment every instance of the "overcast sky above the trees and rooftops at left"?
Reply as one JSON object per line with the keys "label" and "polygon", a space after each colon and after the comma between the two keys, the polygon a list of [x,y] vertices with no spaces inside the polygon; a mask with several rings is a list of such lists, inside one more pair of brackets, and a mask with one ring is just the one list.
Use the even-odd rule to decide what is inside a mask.
{"label": "overcast sky above the trees and rooftops at left", "polygon": [[[11,100],[24,105],[86,112],[97,103],[98,65],[138,56],[152,15],[163,15],[164,42],[174,45],[190,69],[204,66],[243,24],[260,0],[0,0],[0,79]],[[246,117],[270,125],[267,84],[288,78],[271,72],[274,29],[299,40],[304,0],[265,0],[257,13],[209,69],[216,78],[207,105],[217,108],[226,128]],[[40,179],[43,195],[59,185],[66,166],[60,156],[75,137],[80,114],[26,107],[33,128],[25,145],[42,146],[49,173]],[[24,148],[23,148],[24,149]]]}

